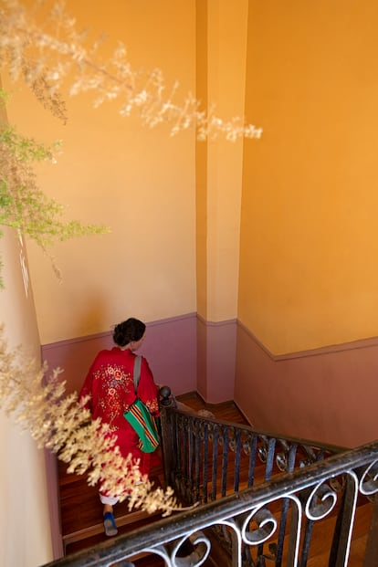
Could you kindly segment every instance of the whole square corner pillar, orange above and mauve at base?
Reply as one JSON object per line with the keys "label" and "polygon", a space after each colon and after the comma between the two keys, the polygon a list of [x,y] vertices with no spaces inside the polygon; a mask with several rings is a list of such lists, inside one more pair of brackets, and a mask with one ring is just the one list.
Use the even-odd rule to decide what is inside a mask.
{"label": "whole square corner pillar, orange above and mauve at base", "polygon": [[[247,0],[197,2],[197,98],[223,119],[244,116]],[[198,391],[234,396],[243,141],[197,142]]]}

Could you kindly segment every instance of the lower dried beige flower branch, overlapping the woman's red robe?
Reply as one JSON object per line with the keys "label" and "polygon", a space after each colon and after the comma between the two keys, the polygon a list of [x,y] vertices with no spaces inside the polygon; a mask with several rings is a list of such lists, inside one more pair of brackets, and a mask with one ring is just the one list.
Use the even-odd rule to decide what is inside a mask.
{"label": "lower dried beige flower branch, overlapping the woman's red robe", "polygon": [[56,369],[46,381],[46,366],[7,349],[4,326],[0,326],[0,408],[23,429],[30,431],[39,448],[45,446],[65,463],[68,472],[88,472],[90,486],[100,484],[110,496],[129,499],[129,509],[148,513],[162,511],[167,516],[180,509],[173,489],[153,489],[142,477],[138,461],[121,456],[109,426],[92,421],[89,410],[78,402],[76,393],[65,395],[65,383]]}

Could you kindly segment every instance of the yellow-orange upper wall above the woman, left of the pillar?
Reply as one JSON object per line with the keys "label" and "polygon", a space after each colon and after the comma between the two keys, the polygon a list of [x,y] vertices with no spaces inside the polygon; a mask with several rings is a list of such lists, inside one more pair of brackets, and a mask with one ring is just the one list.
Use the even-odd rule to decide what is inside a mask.
{"label": "yellow-orange upper wall above the woman, left of the pillar", "polygon": [[[121,40],[133,68],[161,68],[167,95],[177,79],[177,102],[194,92],[194,1],[69,0],[67,7],[89,38],[107,34],[107,53]],[[91,100],[67,99],[66,126],[26,88],[16,89],[8,109],[20,131],[64,142],[58,163],[38,171],[41,188],[67,205],[68,218],[111,228],[53,247],[61,284],[28,243],[43,344],[109,331],[131,315],[160,320],[195,311],[194,132],[170,137],[166,125],[143,128],[137,114],[122,119],[117,102],[94,110]]]}

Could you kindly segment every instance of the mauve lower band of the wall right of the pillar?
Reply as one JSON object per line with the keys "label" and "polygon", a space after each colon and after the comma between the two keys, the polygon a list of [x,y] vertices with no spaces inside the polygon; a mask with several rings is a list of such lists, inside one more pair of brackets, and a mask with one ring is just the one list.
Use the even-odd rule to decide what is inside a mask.
{"label": "mauve lower band of the wall right of the pillar", "polygon": [[235,402],[257,429],[359,446],[378,438],[378,339],[274,357],[237,327]]}

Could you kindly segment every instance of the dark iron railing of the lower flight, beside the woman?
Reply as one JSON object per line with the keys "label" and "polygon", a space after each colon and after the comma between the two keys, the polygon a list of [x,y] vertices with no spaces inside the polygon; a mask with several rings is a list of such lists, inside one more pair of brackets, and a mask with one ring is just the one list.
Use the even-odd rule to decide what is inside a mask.
{"label": "dark iron railing of the lower flight, beside the woman", "polygon": [[170,398],[165,404],[165,477],[186,504],[224,498],[345,450],[200,415]]}

